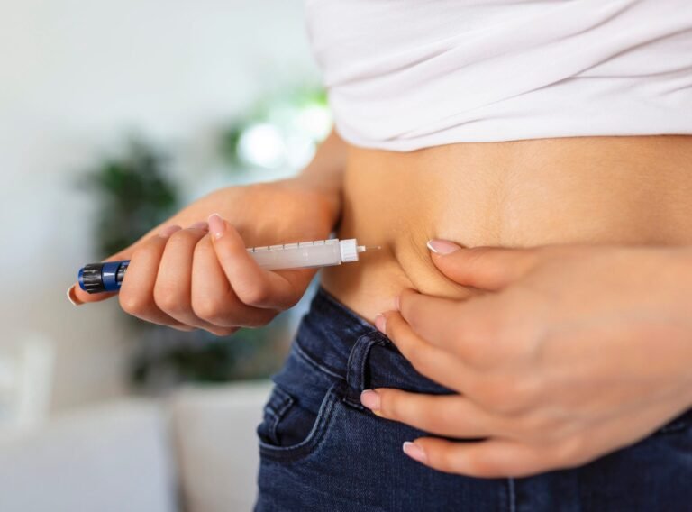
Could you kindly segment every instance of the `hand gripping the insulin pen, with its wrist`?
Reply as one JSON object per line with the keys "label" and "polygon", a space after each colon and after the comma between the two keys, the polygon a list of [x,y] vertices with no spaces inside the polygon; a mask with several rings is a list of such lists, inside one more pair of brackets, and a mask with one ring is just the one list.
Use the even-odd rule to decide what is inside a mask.
{"label": "hand gripping the insulin pen, with its wrist", "polygon": [[[296,304],[316,270],[263,270],[246,247],[326,238],[339,202],[337,192],[304,178],[217,190],[107,259],[131,260],[120,304],[179,330],[227,335],[267,324]],[[213,214],[211,225],[203,222]],[[78,285],[68,295],[77,304],[114,296],[89,295]]]}

